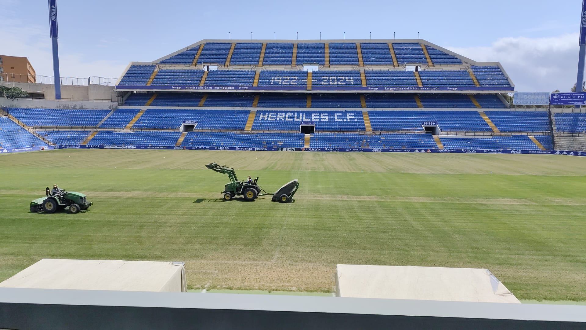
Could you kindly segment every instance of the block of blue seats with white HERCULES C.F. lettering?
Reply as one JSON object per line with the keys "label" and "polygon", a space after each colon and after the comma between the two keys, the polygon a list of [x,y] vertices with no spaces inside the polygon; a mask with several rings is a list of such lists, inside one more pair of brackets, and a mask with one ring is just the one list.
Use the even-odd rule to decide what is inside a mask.
{"label": "block of blue seats with white HERCULES C.F. lettering", "polygon": [[299,130],[299,124],[307,121],[315,122],[315,129],[322,131],[366,130],[360,110],[257,110],[253,130]]}

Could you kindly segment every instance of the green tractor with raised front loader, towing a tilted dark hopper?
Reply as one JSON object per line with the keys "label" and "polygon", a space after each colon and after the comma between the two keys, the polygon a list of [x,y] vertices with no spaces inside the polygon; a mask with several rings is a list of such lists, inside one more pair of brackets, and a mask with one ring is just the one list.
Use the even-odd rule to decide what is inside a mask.
{"label": "green tractor with raised front loader, towing a tilted dark hopper", "polygon": [[[247,183],[246,181],[239,181],[236,177],[236,171],[231,167],[218,165],[217,163],[207,164],[206,167],[218,173],[228,175],[230,182],[224,185],[224,191],[222,191],[222,197],[224,200],[229,201],[235,196],[243,196],[244,200],[253,201],[258,196],[261,196],[261,191],[267,194],[263,188],[258,186],[258,177],[251,183]],[[280,203],[291,201],[298,187],[299,183],[297,182],[297,179],[289,181],[273,194],[272,201],[278,201]]]}

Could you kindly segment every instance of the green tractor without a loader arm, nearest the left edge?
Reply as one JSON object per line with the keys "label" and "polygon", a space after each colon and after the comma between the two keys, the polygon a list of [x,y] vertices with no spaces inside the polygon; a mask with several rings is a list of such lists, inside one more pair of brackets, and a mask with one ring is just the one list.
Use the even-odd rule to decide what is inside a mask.
{"label": "green tractor without a loader arm, nearest the left edge", "polygon": [[87,210],[94,203],[87,201],[87,196],[76,191],[62,190],[59,194],[51,194],[49,187],[45,189],[45,197],[37,198],[30,202],[30,211],[33,213],[45,211],[54,213],[69,207],[71,213]]}

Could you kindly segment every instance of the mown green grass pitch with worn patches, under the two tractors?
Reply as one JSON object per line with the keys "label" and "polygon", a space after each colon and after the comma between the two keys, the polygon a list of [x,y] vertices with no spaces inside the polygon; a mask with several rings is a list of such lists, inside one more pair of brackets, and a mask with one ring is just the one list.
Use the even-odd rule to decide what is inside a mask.
{"label": "mown green grass pitch with worn patches, under the two tractors", "polygon": [[[219,200],[212,161],[291,179]],[[332,292],[336,264],[488,268],[520,299],[586,301],[586,159],[56,150],[0,156],[0,281],[41,258],[185,261],[189,288]],[[29,213],[54,183],[94,201]]]}

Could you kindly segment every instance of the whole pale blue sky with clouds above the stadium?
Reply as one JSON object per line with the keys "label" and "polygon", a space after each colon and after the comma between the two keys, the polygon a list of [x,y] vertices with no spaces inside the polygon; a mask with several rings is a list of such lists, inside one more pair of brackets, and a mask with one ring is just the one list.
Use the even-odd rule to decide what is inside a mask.
{"label": "whole pale blue sky with clouds above the stadium", "polygon": [[[57,0],[63,76],[114,76],[200,39],[417,38],[500,61],[517,90],[575,82],[580,0],[74,1]],[[0,53],[52,75],[46,0],[0,0]],[[554,15],[552,15],[554,13]],[[4,36],[8,36],[4,38]],[[3,45],[4,44],[4,45]],[[48,56],[47,56],[48,54]],[[47,58],[48,57],[48,58]]]}

